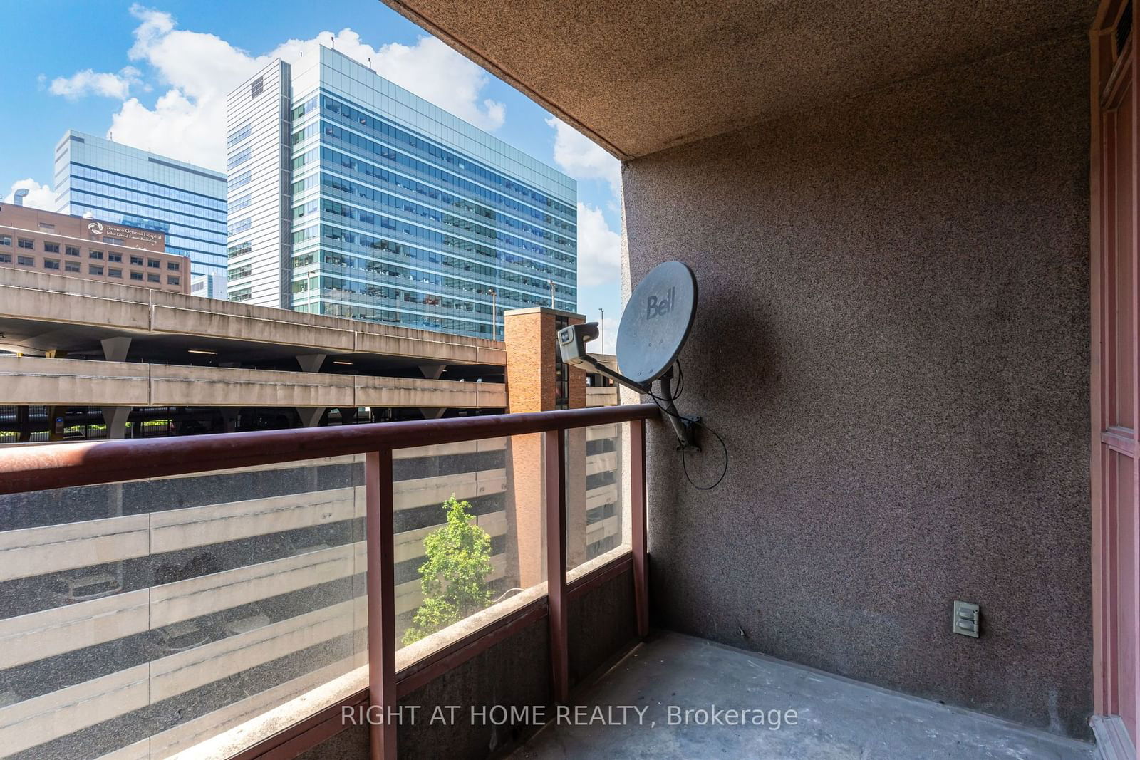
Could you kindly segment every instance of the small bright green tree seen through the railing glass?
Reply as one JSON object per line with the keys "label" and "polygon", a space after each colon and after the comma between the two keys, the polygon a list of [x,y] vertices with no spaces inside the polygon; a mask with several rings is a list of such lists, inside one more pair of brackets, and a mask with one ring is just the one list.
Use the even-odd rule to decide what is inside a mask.
{"label": "small bright green tree seen through the railing glass", "polygon": [[404,634],[406,645],[490,604],[491,537],[475,524],[470,508],[470,501],[458,501],[453,493],[443,502],[447,524],[424,539],[427,562],[420,565],[424,600]]}

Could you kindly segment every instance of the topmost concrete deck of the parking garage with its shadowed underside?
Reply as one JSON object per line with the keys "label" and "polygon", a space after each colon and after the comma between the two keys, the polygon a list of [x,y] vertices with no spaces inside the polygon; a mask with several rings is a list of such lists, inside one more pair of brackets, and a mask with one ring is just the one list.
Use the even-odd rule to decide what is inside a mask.
{"label": "topmost concrete deck of the parking garage with its shadowed underside", "polygon": [[190,350],[218,361],[283,362],[320,353],[360,370],[422,365],[502,367],[502,342],[162,293],[15,269],[0,270],[0,350],[103,358],[100,341],[130,337],[131,357],[177,362]]}

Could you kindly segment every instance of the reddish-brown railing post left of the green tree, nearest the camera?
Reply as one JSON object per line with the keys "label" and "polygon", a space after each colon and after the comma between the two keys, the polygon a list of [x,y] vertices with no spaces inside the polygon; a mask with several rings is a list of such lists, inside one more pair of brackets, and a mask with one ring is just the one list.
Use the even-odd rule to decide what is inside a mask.
{"label": "reddish-brown railing post left of the green tree, nearest the camera", "polygon": [[368,724],[372,760],[396,759],[396,544],[392,530],[392,450],[365,460],[365,525],[368,569],[368,701],[380,714]]}

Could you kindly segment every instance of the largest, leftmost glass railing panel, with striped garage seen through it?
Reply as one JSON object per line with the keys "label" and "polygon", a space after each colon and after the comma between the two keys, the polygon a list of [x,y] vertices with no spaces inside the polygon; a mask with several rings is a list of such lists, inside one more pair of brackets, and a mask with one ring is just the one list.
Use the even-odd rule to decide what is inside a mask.
{"label": "largest, leftmost glass railing panel, with striped garage seen through it", "polygon": [[6,755],[165,758],[364,664],[361,461],[0,496]]}

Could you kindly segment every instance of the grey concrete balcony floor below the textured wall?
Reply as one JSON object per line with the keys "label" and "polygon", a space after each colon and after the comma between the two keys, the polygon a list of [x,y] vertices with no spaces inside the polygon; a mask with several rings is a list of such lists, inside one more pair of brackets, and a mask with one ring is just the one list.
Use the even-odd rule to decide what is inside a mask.
{"label": "grey concrete balcony floor below the textured wall", "polygon": [[[710,641],[660,632],[579,698],[578,716],[547,726],[514,760],[554,758],[939,758],[1090,760],[1092,744],[1024,728],[997,718],[868,686]],[[706,716],[675,714],[669,705],[780,712],[773,729],[698,725]],[[630,705],[622,711],[617,705]],[[612,710],[610,708],[613,708]],[[644,724],[638,725],[643,710]],[[595,708],[601,708],[600,712]],[[796,725],[783,711],[796,711]],[[722,720],[735,719],[720,713]],[[609,721],[603,724],[602,721]],[[656,722],[656,725],[651,725]]]}

